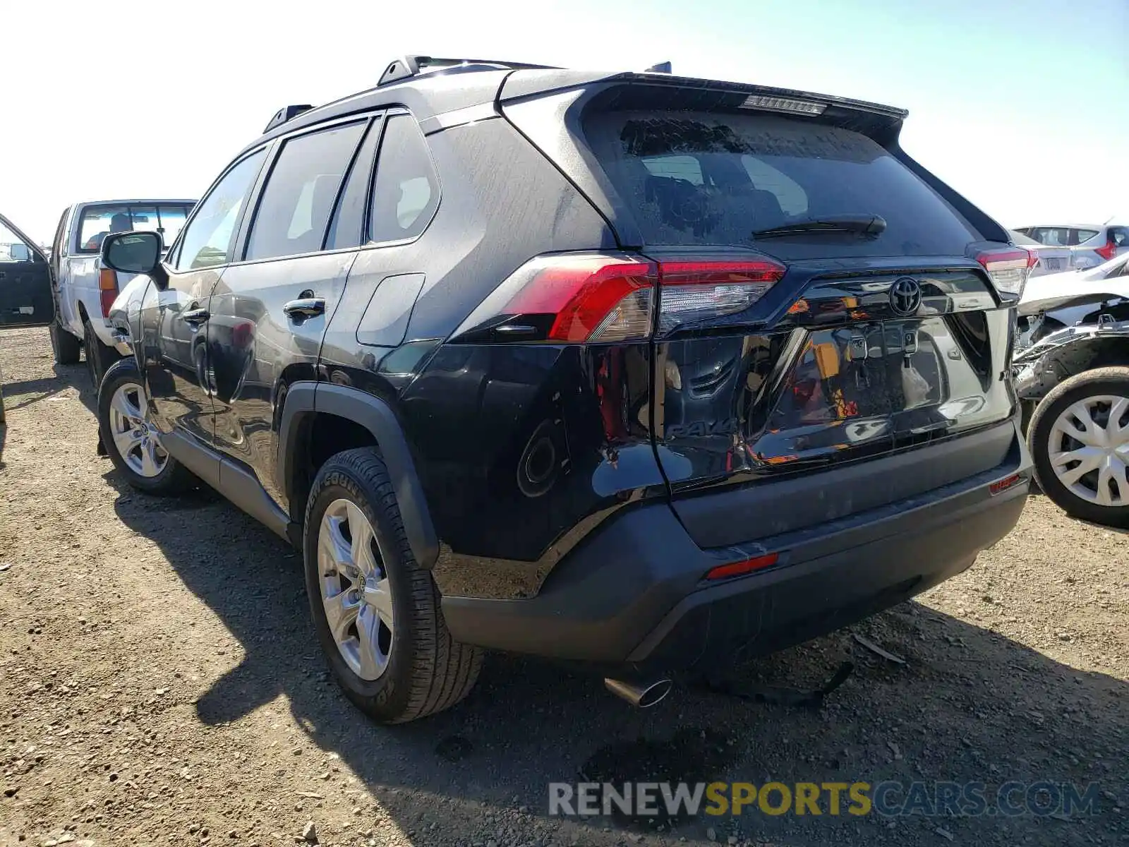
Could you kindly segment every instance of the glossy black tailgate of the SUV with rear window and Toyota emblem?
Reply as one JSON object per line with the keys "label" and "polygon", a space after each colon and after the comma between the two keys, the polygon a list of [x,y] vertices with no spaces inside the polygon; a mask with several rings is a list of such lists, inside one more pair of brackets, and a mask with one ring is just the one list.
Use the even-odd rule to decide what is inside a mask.
{"label": "glossy black tailgate of the SUV with rear window and Toyota emblem", "polygon": [[[799,529],[1003,461],[1014,433],[968,462],[860,478],[817,505],[806,483],[768,495],[771,480],[1007,419],[1010,318],[974,256],[1000,238],[988,246],[1022,265],[1022,285],[1027,253],[957,212],[896,142],[857,130],[865,116],[743,111],[741,99],[674,108],[655,93],[605,102],[580,125],[611,183],[613,226],[638,233],[658,265],[653,433],[699,544]],[[724,488],[760,491],[771,508],[697,497]]]}

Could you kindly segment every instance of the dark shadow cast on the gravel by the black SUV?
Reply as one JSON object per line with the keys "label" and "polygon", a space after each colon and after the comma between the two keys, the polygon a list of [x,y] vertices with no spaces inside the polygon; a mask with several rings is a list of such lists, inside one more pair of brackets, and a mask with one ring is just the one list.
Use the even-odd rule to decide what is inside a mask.
{"label": "dark shadow cast on the gravel by the black SUV", "polygon": [[[742,669],[749,681],[814,688],[842,661],[852,661],[855,674],[821,709],[676,690],[655,709],[638,711],[596,679],[492,656],[460,707],[380,727],[326,673],[296,551],[209,491],[164,500],[131,491],[113,472],[106,479],[121,495],[121,519],[160,545],[245,650],[242,664],[198,701],[200,721],[236,721],[283,695],[297,723],[365,780],[413,844],[548,844],[557,826],[548,818],[548,784],[585,779],[973,780],[987,783],[989,796],[1007,780],[1096,781],[1115,793],[1101,800],[1100,813],[1073,821],[754,811],[625,822],[632,829],[673,826],[675,840],[704,840],[707,827],[721,844],[729,836],[755,836],[764,839],[756,844],[780,845],[933,845],[955,838],[1062,846],[1120,842],[1129,835],[1123,815],[1108,811],[1114,797],[1129,806],[1119,784],[1129,748],[1127,687],[920,604],[904,603],[855,627],[904,664],[839,632]],[[520,806],[527,814],[518,826],[513,815]],[[495,817],[488,821],[488,814]],[[598,820],[578,842],[613,844],[618,837],[599,828],[621,823]]]}

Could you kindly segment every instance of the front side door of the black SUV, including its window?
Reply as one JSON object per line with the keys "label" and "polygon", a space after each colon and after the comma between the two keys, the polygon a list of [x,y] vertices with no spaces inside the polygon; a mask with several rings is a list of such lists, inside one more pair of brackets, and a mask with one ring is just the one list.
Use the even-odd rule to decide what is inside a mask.
{"label": "front side door of the black SUV, including its window", "polygon": [[145,374],[149,413],[161,433],[180,430],[212,442],[208,305],[230,262],[265,155],[265,149],[251,154],[219,178],[165,259],[167,285],[151,282],[146,290],[134,353]]}

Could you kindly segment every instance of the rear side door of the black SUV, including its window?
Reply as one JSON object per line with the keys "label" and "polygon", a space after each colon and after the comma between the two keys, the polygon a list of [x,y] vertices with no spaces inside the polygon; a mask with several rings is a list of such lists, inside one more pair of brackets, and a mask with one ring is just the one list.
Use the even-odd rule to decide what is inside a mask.
{"label": "rear side door of the black SUV, including its window", "polygon": [[275,410],[295,381],[316,378],[325,326],[344,291],[357,244],[327,246],[330,218],[368,117],[283,139],[270,164],[238,259],[211,296],[208,349],[216,445],[278,501]]}

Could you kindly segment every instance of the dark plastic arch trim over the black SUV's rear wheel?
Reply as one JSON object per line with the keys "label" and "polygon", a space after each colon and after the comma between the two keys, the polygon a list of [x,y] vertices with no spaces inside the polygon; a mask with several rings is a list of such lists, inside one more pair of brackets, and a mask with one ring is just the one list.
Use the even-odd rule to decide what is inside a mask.
{"label": "dark plastic arch trim over the black SUV's rear wheel", "polygon": [[279,421],[275,468],[287,499],[294,496],[294,474],[303,427],[322,412],[351,420],[365,427],[376,439],[392,479],[412,556],[420,567],[430,569],[439,558],[439,541],[415,462],[392,407],[373,394],[332,383],[299,382],[288,387]]}

